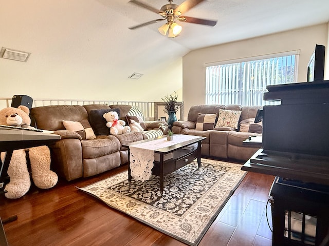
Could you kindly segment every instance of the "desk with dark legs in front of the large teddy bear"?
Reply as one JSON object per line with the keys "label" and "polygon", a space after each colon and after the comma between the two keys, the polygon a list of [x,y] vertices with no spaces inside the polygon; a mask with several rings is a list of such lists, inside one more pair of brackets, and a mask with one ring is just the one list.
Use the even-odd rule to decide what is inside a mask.
{"label": "desk with dark legs in front of the large teddy bear", "polygon": [[[0,159],[0,194],[5,193],[5,179],[14,150],[52,144],[61,136],[44,132],[0,128],[0,152],[6,152],[4,162]],[[0,245],[7,246],[7,238],[0,218]]]}

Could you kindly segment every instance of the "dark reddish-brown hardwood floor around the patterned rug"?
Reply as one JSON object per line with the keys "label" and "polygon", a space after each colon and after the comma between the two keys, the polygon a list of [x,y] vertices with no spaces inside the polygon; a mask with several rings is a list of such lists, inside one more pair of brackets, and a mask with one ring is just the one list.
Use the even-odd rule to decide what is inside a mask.
{"label": "dark reddish-brown hardwood floor around the patterned rug", "polygon": [[[22,198],[1,197],[0,217],[17,215],[4,225],[10,246],[23,245],[186,245],[79,191],[90,183],[123,172],[127,166],[56,187],[31,187]],[[268,193],[273,176],[248,173],[199,246],[269,246],[271,225]]]}

